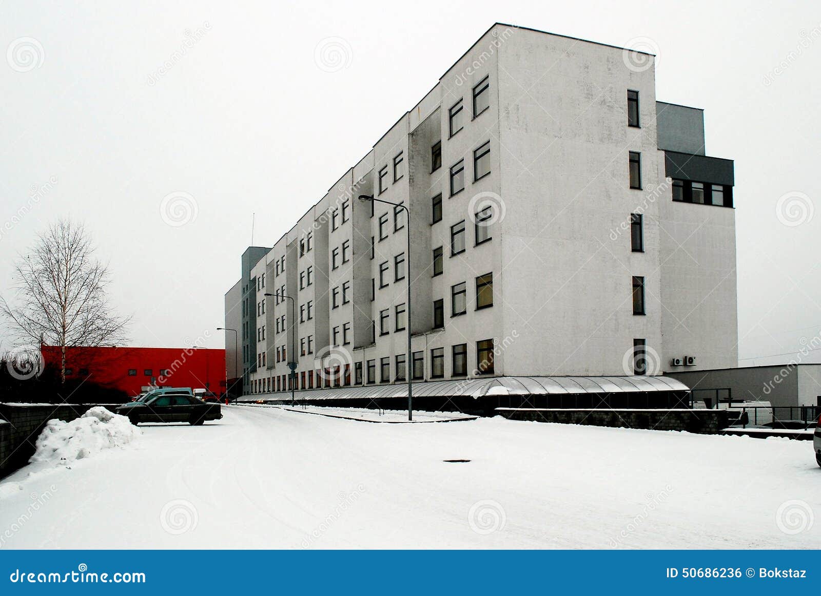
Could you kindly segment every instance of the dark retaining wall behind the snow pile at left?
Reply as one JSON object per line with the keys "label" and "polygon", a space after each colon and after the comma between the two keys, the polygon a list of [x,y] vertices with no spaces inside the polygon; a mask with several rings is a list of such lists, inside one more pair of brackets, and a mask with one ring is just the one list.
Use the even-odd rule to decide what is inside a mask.
{"label": "dark retaining wall behind the snow pile at left", "polygon": [[94,405],[23,406],[0,404],[0,478],[29,461],[34,444],[46,422],[59,418],[66,422],[79,418]]}

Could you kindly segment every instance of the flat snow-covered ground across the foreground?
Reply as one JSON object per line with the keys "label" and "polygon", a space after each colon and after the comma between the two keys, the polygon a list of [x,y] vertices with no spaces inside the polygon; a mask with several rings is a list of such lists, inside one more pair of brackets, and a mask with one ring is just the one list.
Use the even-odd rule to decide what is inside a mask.
{"label": "flat snow-covered ground across the foreground", "polygon": [[821,548],[810,442],[223,411],[4,479],[0,548]]}

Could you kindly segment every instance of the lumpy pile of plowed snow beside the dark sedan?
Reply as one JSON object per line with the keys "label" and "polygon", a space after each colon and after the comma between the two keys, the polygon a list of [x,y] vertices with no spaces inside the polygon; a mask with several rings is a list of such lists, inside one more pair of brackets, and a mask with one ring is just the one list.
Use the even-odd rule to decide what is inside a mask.
{"label": "lumpy pile of plowed snow beside the dark sedan", "polygon": [[123,447],[140,437],[142,431],[125,416],[112,414],[102,406],[91,408],[71,422],[48,420],[37,438],[32,463],[71,464],[103,449]]}

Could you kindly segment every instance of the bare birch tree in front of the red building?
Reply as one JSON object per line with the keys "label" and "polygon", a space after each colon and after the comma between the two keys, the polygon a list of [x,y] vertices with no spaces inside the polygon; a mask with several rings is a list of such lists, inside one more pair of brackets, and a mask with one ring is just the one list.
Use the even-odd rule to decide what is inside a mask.
{"label": "bare birch tree in front of the red building", "polygon": [[0,314],[19,340],[61,348],[61,383],[68,347],[117,346],[131,320],[108,305],[108,266],[94,250],[81,223],[57,221],[15,263],[14,298],[0,298]]}

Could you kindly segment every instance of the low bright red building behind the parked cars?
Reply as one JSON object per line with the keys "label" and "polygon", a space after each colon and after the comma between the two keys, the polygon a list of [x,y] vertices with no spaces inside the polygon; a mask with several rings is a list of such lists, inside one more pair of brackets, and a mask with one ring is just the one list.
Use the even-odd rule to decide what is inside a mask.
{"label": "low bright red building behind the parked cars", "polygon": [[[60,347],[41,346],[44,364],[60,368]],[[70,347],[66,378],[88,380],[128,396],[148,387],[191,387],[222,395],[225,350],[150,347]]]}

